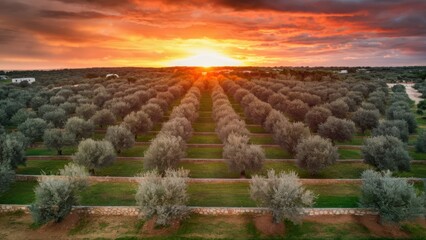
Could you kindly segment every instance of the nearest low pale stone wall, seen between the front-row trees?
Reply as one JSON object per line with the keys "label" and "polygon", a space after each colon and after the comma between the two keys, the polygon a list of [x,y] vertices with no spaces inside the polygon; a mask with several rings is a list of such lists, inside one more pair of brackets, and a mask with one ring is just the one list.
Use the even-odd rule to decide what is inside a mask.
{"label": "nearest low pale stone wall, seen between the front-row trees", "polygon": [[[232,208],[232,207],[190,207],[192,213],[202,215],[241,215],[241,214],[265,214],[270,211],[267,208]],[[29,213],[28,205],[1,205],[0,213],[23,211]],[[75,206],[73,211],[82,214],[99,216],[139,216],[139,208],[135,206]],[[370,209],[364,208],[306,208],[304,212],[308,216],[322,215],[375,215]]]}

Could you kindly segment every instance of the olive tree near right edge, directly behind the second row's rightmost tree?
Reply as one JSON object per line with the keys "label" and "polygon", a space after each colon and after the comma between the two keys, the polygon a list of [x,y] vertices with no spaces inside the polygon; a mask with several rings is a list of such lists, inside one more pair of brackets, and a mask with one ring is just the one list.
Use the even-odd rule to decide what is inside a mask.
{"label": "olive tree near right edge, directly behind the second row's rightmost tree", "polygon": [[380,122],[377,128],[373,129],[372,134],[373,136],[393,136],[403,142],[408,142],[408,125],[403,120],[385,120]]}

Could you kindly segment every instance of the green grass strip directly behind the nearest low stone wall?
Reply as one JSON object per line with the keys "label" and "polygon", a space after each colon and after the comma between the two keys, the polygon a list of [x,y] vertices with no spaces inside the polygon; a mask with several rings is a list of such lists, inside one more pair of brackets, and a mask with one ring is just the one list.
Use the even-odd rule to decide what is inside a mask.
{"label": "green grass strip directly behind the nearest low stone wall", "polygon": [[[30,204],[36,182],[16,182],[0,196],[0,203]],[[134,206],[136,183],[94,183],[81,193],[81,205]],[[351,184],[307,186],[319,194],[316,207],[353,207],[359,187]],[[190,206],[254,207],[248,183],[193,183],[188,186]]]}

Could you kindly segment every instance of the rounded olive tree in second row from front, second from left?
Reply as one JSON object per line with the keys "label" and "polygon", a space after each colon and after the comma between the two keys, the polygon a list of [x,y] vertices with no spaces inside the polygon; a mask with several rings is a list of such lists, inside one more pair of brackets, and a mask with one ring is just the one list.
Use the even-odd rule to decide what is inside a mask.
{"label": "rounded olive tree in second row from front, second from left", "polygon": [[105,140],[86,139],[80,142],[72,156],[74,163],[83,165],[94,175],[95,169],[111,165],[116,158],[114,146]]}

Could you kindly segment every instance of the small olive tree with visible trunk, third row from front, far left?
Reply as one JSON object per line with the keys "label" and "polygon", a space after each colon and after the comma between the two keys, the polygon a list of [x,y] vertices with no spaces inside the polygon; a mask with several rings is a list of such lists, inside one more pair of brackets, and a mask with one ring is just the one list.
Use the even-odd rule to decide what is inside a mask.
{"label": "small olive tree with visible trunk, third row from front, far left", "polygon": [[47,129],[43,135],[43,143],[48,148],[56,149],[62,155],[62,148],[75,143],[75,135],[59,128]]}

